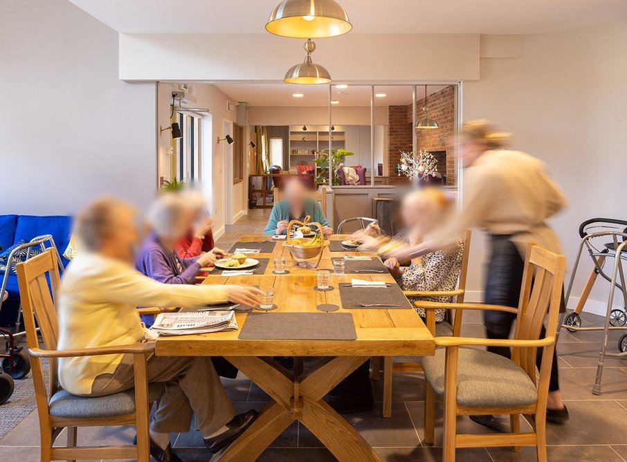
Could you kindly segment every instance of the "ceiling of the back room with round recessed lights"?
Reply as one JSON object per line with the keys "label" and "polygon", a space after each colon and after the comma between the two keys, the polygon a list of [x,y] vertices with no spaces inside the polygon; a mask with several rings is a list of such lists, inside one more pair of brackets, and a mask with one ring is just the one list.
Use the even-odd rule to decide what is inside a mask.
{"label": "ceiling of the back room with round recessed lights", "polygon": [[[341,82],[335,82],[340,84]],[[213,82],[218,89],[236,101],[246,101],[249,106],[272,107],[320,107],[329,105],[328,85],[294,85],[285,83],[223,83]],[[193,84],[192,84],[193,85]],[[442,85],[428,86],[428,94],[443,89]],[[349,85],[347,89],[331,86],[331,100],[339,103],[334,107],[370,107],[370,86]],[[294,93],[301,93],[302,98],[294,98]],[[377,85],[374,93],[385,93],[383,98],[374,98],[377,106],[394,104],[412,104],[411,85]],[[417,89],[417,99],[424,96],[424,86]]]}

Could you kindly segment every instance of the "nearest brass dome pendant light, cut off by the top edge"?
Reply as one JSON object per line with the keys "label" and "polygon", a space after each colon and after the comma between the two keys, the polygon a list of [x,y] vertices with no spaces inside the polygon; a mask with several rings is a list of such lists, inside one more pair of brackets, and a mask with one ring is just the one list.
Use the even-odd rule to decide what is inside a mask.
{"label": "nearest brass dome pendant light, cut off by the top edge", "polygon": [[353,28],[335,0],[283,0],[273,10],[266,30],[296,39],[336,37]]}

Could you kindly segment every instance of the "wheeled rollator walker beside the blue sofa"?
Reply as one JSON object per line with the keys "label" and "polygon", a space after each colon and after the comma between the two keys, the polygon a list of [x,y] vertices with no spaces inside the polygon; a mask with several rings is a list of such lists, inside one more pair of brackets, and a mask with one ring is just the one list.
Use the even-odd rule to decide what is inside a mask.
{"label": "wheeled rollator walker beside the blue sofa", "polygon": [[[48,245],[48,247],[46,247]],[[4,277],[0,286],[0,310],[2,309],[3,302],[8,299],[8,292],[6,285],[10,272],[15,268],[15,264],[19,261],[28,260],[30,257],[34,257],[41,252],[45,252],[48,248],[55,248],[55,254],[57,255],[57,263],[60,269],[64,269],[63,261],[56,250],[55,241],[51,234],[44,234],[31,239],[27,243],[23,243],[13,248],[5,262],[6,269],[4,271]],[[9,329],[0,327],[0,341],[3,340],[5,344],[4,352],[0,352],[0,405],[8,400],[13,394],[13,380],[19,380],[26,377],[30,371],[30,357],[26,351],[23,351],[22,347],[18,347],[15,344],[15,338],[24,335],[24,332],[20,332],[21,326],[21,304],[17,311],[17,320],[15,322],[15,333]]]}

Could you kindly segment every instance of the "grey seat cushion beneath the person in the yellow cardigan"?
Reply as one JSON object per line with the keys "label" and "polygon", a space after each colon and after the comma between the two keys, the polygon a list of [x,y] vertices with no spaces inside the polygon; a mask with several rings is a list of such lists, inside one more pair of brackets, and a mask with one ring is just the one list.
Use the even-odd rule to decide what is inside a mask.
{"label": "grey seat cushion beneath the person in the yellow cardigan", "polygon": [[[148,385],[149,403],[163,394],[163,383]],[[55,417],[68,418],[104,418],[123,416],[135,412],[135,390],[130,389],[113,395],[75,396],[61,389],[57,391],[48,404],[50,414]]]}

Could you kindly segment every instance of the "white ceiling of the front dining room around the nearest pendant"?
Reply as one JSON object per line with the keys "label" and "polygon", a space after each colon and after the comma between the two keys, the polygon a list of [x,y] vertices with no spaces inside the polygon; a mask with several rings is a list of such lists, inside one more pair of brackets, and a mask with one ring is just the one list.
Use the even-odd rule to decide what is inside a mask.
{"label": "white ceiling of the front dining room around the nearest pendant", "polygon": [[[279,0],[70,0],[120,33],[264,33]],[[352,33],[528,34],[627,17],[627,0],[339,0]]]}

